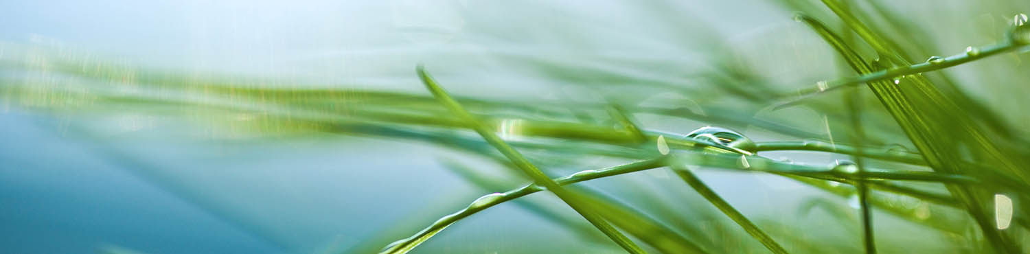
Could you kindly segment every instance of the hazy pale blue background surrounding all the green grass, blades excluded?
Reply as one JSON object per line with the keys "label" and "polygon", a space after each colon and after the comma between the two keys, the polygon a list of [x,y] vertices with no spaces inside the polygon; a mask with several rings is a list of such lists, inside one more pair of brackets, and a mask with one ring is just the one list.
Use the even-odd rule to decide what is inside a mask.
{"label": "hazy pale blue background surrounding all the green grass, blades excluded", "polygon": [[[132,93],[123,86],[132,87],[146,70],[262,87],[427,95],[414,73],[423,64],[462,97],[528,105],[616,98],[686,107],[702,115],[778,121],[810,138],[842,139],[836,130],[848,123],[822,112],[767,110],[768,101],[724,96],[732,94],[725,88],[732,87],[727,79],[739,80],[737,87],[745,89],[760,80],[765,87],[790,92],[854,75],[842,69],[836,53],[811,29],[791,19],[805,11],[839,28],[832,13],[819,3],[787,2],[2,1],[0,77],[5,86],[101,86],[118,94]],[[880,8],[877,21],[900,19],[907,30],[887,32],[911,33],[919,40],[913,50],[933,55],[998,41],[1014,14],[1030,11],[1025,1],[857,2],[858,8]],[[1028,108],[1028,60],[1025,53],[1002,55],[946,74],[1026,137],[1030,111],[1022,109]],[[47,69],[61,63],[121,70],[108,78],[129,85]],[[60,96],[0,99],[0,252],[339,253],[381,247],[388,243],[383,239],[410,235],[479,195],[500,191],[476,187],[441,161],[461,160],[484,172],[496,166],[425,142],[240,131],[233,122],[252,120],[246,114],[128,106],[76,111],[74,105],[74,99]],[[637,119],[649,130],[679,134],[722,124],[656,115]],[[802,140],[750,124],[732,128],[756,141]],[[911,147],[896,125],[869,132]],[[813,165],[848,158],[812,152],[762,155]],[[551,172],[565,175],[617,162],[578,158]],[[831,250],[839,253],[861,251],[857,210],[842,218],[811,208],[812,199],[850,207],[847,198],[777,176],[698,174],[745,215],[784,225],[759,223],[780,228],[768,229],[778,239],[785,239],[780,231],[793,231],[804,241],[838,243]],[[711,221],[694,223],[729,223],[672,173],[617,178],[586,185],[627,204],[667,204],[687,220]],[[526,199],[582,220],[552,195]],[[898,202],[917,210],[927,206]],[[955,214],[961,215],[927,216]],[[932,233],[880,211],[874,218],[878,232],[884,232],[878,234],[883,252],[975,250],[963,247],[969,234]],[[958,227],[972,226],[961,222]],[[716,239],[726,235],[725,251],[764,251],[742,229],[723,228],[728,232],[712,231]],[[1020,235],[1018,241],[1030,241]],[[503,204],[460,221],[415,252],[622,251]]]}

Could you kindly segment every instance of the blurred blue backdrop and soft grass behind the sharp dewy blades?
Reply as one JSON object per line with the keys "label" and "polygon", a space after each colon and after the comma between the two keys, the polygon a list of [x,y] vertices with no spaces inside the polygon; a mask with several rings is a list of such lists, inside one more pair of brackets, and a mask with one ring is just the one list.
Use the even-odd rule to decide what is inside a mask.
{"label": "blurred blue backdrop and soft grass behind the sharp dewy blades", "polygon": [[[1009,31],[1030,12],[1027,1],[830,2],[912,63],[1026,36]],[[890,159],[863,159],[863,169],[974,179],[989,229],[1009,252],[1028,252],[1025,44],[894,82],[936,131],[914,133],[864,85],[795,101],[820,81],[858,75],[799,13],[865,61],[889,59],[819,1],[0,2],[0,252],[369,253],[530,183],[450,121],[416,65],[552,178],[656,156],[658,135],[688,144],[670,145],[674,153],[720,157],[684,137],[707,125],[759,144],[870,147],[916,160],[941,148],[962,161],[951,164],[957,172]],[[923,79],[954,105],[905,88]],[[796,104],[777,108],[787,102]],[[612,108],[646,142],[622,138],[632,132]],[[958,128],[966,121],[991,144]],[[747,157],[824,170],[855,159],[793,149]],[[847,182],[687,164],[790,253],[866,251],[863,206]],[[995,171],[986,168],[998,173],[975,173]],[[999,176],[1015,183],[990,178]],[[930,201],[954,189],[883,182],[932,196],[873,187],[879,252],[1004,252],[968,208]],[[673,234],[711,253],[768,252],[667,169],[575,186],[671,228],[632,235],[649,252],[665,251],[649,238]],[[1008,199],[1007,217],[998,198]],[[413,252],[624,251],[537,193],[461,219]]]}

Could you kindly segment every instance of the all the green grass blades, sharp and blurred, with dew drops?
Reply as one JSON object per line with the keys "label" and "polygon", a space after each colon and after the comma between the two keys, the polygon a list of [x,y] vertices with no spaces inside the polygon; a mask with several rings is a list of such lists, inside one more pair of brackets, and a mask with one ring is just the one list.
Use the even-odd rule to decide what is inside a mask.
{"label": "all the green grass blades, sharp and blurred, with dew drops", "polygon": [[[475,185],[499,192],[470,201],[465,209],[455,207],[458,212],[453,214],[423,215],[424,218],[417,221],[428,226],[421,231],[398,235],[399,232],[383,230],[389,233],[370,238],[364,245],[350,249],[355,253],[417,250],[419,244],[432,241],[449,225],[506,202],[519,203],[541,217],[578,232],[584,241],[598,245],[613,241],[617,245],[612,247],[621,246],[633,253],[821,253],[834,250],[874,253],[878,250],[919,252],[920,248],[927,248],[928,244],[896,243],[895,239],[904,238],[877,231],[872,211],[923,227],[927,234],[959,239],[961,241],[948,243],[953,245],[948,248],[956,252],[1030,251],[1026,245],[1030,205],[1023,202],[1030,198],[1027,132],[1024,126],[1011,124],[1014,120],[1004,119],[1005,114],[991,111],[975,97],[963,92],[977,84],[962,84],[947,76],[948,68],[976,61],[1009,56],[1025,60],[1024,55],[1019,53],[1030,48],[1030,25],[1025,25],[1026,15],[1015,14],[1010,28],[999,33],[994,44],[969,46],[951,57],[929,58],[923,63],[921,56],[935,50],[925,49],[930,47],[924,47],[920,39],[916,39],[926,36],[925,33],[907,17],[889,12],[885,7],[888,3],[846,5],[837,0],[824,0],[821,4],[782,3],[800,12],[795,19],[808,25],[813,34],[839,53],[839,59],[854,73],[826,77],[825,81],[808,88],[790,89],[762,80],[748,67],[716,63],[714,69],[699,74],[710,82],[703,87],[633,84],[641,87],[641,94],[674,93],[695,102],[652,106],[629,99],[642,97],[632,94],[595,102],[452,98],[440,86],[446,86],[446,80],[437,84],[424,72],[418,73],[431,90],[424,94],[311,88],[316,85],[268,87],[248,83],[248,79],[227,81],[55,58],[45,50],[25,50],[25,56],[31,56],[26,58],[28,61],[4,59],[2,70],[7,75],[0,77],[4,83],[0,96],[4,107],[23,107],[55,115],[104,114],[129,107],[254,135],[329,133],[415,140],[464,151],[470,156],[495,161],[500,168],[520,172],[493,179],[481,175],[484,170],[467,168],[459,161],[450,164],[454,172]],[[824,23],[840,25],[840,28],[834,29]],[[719,36],[701,37],[712,40],[714,53],[726,51],[719,48],[722,43]],[[834,59],[824,61],[832,64]],[[571,85],[591,89],[623,89],[625,87],[620,86],[626,85],[625,82],[598,82],[624,78],[617,73],[562,73],[555,71],[554,63],[537,64],[542,73],[572,80]],[[1009,73],[1024,71],[1024,76],[982,81],[1026,83],[1025,66],[1007,68],[1012,69]],[[575,82],[577,80],[582,83]],[[861,96],[866,90],[872,96]],[[845,94],[846,103],[838,100],[837,93]],[[756,117],[781,108],[810,109],[823,116],[827,129],[845,131],[849,135],[825,140],[821,134],[796,128],[790,116]],[[645,115],[691,119],[734,129],[755,126],[778,136],[808,141],[750,143],[747,137],[729,130],[688,136],[655,130],[634,120]],[[905,148],[908,144],[915,149]],[[786,150],[848,154],[854,157],[857,166],[851,170],[846,165],[812,166],[763,156]],[[630,162],[563,177],[553,176],[556,175],[553,168],[575,166],[581,159],[592,157]],[[759,219],[761,215],[744,214],[693,173],[698,168],[783,176],[855,203],[861,211],[860,216],[822,197],[804,203],[802,210],[812,212],[820,208],[818,211],[828,213],[832,220],[846,225],[846,232],[861,239],[864,244],[855,247],[819,241],[798,232],[827,229],[778,223]],[[919,171],[911,170],[913,168]],[[578,186],[580,182],[617,179],[631,172],[667,170],[680,176],[685,181],[683,185],[692,187],[703,197],[689,199],[691,203],[687,205],[692,208],[689,216],[658,198],[644,202],[643,206],[627,204],[605,191]],[[508,187],[504,185],[515,182],[522,183],[522,187],[501,192],[502,187]],[[556,194],[590,223],[561,217],[550,207],[518,199],[540,191]],[[653,195],[643,190],[639,192],[633,194],[645,199]],[[996,195],[1012,201],[1010,206],[995,203]],[[717,210],[711,210],[712,207]],[[861,226],[850,226],[849,223],[855,220],[861,220]],[[607,238],[598,237],[597,232]],[[387,246],[397,239],[402,240]],[[382,248],[384,246],[386,248]],[[913,249],[899,250],[896,246]]]}

